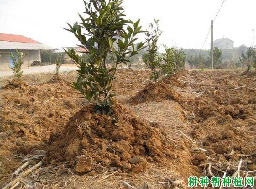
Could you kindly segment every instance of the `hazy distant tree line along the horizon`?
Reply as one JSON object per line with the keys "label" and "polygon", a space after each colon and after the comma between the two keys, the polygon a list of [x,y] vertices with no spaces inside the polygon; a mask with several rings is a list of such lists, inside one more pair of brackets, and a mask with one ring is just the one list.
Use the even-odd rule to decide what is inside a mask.
{"label": "hazy distant tree line along the horizon", "polygon": [[[133,63],[142,63],[143,54],[147,52],[147,48],[139,51],[138,54],[129,58],[130,68]],[[183,49],[185,53],[186,62],[190,65],[191,69],[210,69],[211,68],[211,51],[210,50],[199,50],[199,49]],[[62,64],[71,64],[70,61],[66,60],[65,52],[54,53],[51,50],[41,50],[41,61],[43,63],[49,62],[55,64],[57,58],[61,60]],[[162,54],[159,53],[161,57]],[[251,69],[256,67],[256,50],[255,47],[246,47],[241,45],[239,48],[234,49],[219,49],[214,48],[213,50],[213,67],[214,69],[232,69],[232,68],[245,68]],[[88,61],[87,54],[83,54],[82,58]],[[107,57],[107,63],[111,64],[111,57]]]}

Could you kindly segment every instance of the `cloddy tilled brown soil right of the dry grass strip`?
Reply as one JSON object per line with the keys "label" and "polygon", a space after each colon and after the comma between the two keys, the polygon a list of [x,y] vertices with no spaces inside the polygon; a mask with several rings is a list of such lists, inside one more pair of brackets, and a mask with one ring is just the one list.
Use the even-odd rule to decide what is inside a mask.
{"label": "cloddy tilled brown soil right of the dry grass strip", "polygon": [[[188,81],[188,89],[197,93],[195,106],[181,104],[193,128],[191,135],[201,140],[201,148],[209,151],[209,157],[230,163],[255,153],[255,77],[227,71],[192,71],[190,77],[204,78],[200,84]],[[255,165],[256,156],[247,160]],[[255,166],[247,168],[252,169]]]}

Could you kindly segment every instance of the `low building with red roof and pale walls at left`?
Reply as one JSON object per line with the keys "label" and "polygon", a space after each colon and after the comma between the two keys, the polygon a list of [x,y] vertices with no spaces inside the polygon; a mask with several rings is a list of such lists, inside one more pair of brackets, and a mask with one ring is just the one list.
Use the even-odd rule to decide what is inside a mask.
{"label": "low building with red roof and pale walls at left", "polygon": [[22,67],[26,67],[30,66],[35,60],[41,61],[40,50],[51,50],[53,48],[23,35],[0,33],[0,69],[9,69],[13,66],[13,60],[9,54],[12,52],[17,57],[16,49],[27,53],[22,64]]}

